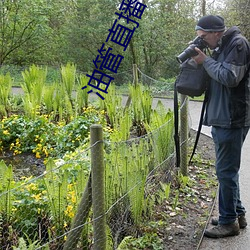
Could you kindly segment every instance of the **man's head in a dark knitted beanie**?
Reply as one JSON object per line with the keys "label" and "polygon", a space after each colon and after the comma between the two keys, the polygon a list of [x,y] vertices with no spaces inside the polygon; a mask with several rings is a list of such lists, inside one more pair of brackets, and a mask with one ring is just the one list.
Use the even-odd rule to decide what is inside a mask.
{"label": "man's head in a dark knitted beanie", "polygon": [[215,49],[225,31],[224,19],[220,16],[203,16],[195,26],[199,37],[207,42],[210,49]]}

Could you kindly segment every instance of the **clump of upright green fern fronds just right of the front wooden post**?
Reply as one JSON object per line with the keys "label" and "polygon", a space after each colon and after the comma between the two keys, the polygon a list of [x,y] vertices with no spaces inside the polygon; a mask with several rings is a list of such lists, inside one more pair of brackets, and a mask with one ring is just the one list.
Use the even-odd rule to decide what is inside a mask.
{"label": "clump of upright green fern fronds just right of the front wooden post", "polygon": [[111,142],[105,168],[107,209],[121,197],[125,198],[122,205],[112,210],[110,218],[118,214],[127,218],[129,213],[134,225],[140,224],[146,210],[144,194],[151,157],[147,138],[131,140],[129,145],[126,142]]}

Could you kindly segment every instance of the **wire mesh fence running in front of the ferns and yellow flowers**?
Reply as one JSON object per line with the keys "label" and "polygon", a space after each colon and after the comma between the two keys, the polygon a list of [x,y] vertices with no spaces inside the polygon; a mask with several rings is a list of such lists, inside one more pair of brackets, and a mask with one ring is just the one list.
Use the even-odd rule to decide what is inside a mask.
{"label": "wire mesh fence running in front of the ferns and yellow flowers", "polygon": [[[187,99],[180,109],[186,104]],[[97,140],[77,149],[73,158],[48,159],[43,174],[19,180],[1,161],[1,249],[119,249],[128,237],[142,234],[140,223],[153,218],[155,203],[162,199],[161,184],[171,183],[176,174],[173,134],[170,114],[167,122],[144,136]],[[103,148],[93,158],[91,150],[100,144]],[[103,186],[93,182],[93,164],[102,161],[102,151]],[[105,210],[95,216],[94,207],[103,206],[100,190]]]}

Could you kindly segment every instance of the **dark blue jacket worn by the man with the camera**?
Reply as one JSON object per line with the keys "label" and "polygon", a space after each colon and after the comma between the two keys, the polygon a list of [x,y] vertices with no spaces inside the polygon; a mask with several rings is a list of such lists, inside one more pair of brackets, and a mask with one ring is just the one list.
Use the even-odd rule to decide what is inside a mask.
{"label": "dark blue jacket worn by the man with the camera", "polygon": [[250,126],[250,46],[237,27],[227,30],[218,50],[203,63],[211,77],[204,125]]}

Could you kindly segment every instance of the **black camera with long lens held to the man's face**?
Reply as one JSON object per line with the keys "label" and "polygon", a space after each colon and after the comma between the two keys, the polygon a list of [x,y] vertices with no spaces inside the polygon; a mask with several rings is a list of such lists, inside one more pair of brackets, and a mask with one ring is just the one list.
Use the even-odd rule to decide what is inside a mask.
{"label": "black camera with long lens held to the man's face", "polygon": [[197,36],[191,43],[190,45],[180,54],[178,55],[177,61],[179,63],[183,63],[186,61],[188,58],[193,57],[198,55],[196,50],[194,49],[195,47],[199,48],[200,50],[203,50],[207,48],[207,43],[199,36]]}

